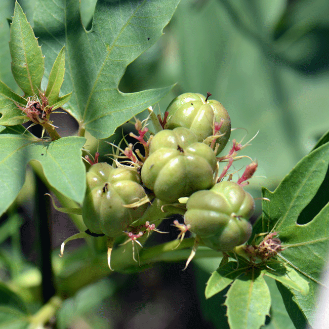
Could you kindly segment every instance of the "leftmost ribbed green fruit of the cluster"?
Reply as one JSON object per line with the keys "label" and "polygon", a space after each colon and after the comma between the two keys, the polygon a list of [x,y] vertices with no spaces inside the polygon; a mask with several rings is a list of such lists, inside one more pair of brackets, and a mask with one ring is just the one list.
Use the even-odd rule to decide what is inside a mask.
{"label": "leftmost ribbed green fruit of the cluster", "polygon": [[139,174],[133,168],[113,168],[106,162],[95,163],[87,173],[87,193],[83,220],[93,233],[116,237],[140,218],[147,204],[131,209],[124,205],[145,197]]}

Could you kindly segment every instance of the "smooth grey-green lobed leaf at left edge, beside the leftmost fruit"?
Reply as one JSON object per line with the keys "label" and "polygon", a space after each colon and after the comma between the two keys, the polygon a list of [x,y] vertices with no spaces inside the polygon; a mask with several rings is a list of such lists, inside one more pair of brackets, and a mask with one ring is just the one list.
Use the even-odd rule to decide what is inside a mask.
{"label": "smooth grey-green lobed leaf at left edge, beside the leftmost fruit", "polygon": [[63,137],[48,142],[11,126],[0,134],[0,215],[14,201],[25,180],[26,165],[36,160],[55,189],[81,203],[86,190],[86,170],[81,159],[85,138]]}

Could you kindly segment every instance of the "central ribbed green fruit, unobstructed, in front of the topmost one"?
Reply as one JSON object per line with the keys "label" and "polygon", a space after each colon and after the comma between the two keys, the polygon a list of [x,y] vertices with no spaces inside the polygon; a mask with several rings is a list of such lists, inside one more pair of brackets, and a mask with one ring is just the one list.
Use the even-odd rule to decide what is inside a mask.
{"label": "central ribbed green fruit, unobstructed, in front of the topmost one", "polygon": [[214,185],[217,159],[187,128],[162,130],[150,143],[142,167],[143,184],[162,201],[172,203]]}

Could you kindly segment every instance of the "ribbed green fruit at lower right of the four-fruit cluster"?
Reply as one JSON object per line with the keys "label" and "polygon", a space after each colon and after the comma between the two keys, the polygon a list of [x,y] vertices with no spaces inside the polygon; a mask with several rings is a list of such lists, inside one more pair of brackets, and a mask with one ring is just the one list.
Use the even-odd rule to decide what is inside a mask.
{"label": "ribbed green fruit at lower right of the four-fruit cluster", "polygon": [[231,251],[252,234],[248,221],[254,213],[253,197],[235,182],[223,181],[208,191],[193,193],[184,222],[201,241],[216,251]]}

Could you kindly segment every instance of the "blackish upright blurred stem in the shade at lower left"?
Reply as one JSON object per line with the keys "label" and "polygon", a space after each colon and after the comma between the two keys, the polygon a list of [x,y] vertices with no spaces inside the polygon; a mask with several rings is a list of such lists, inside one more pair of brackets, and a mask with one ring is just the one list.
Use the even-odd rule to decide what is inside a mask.
{"label": "blackish upright blurred stem in the shade at lower left", "polygon": [[50,202],[45,197],[48,193],[46,185],[39,177],[35,178],[35,184],[38,188],[35,190],[34,219],[38,234],[38,262],[42,273],[42,302],[45,303],[55,294],[51,261],[51,210]]}

